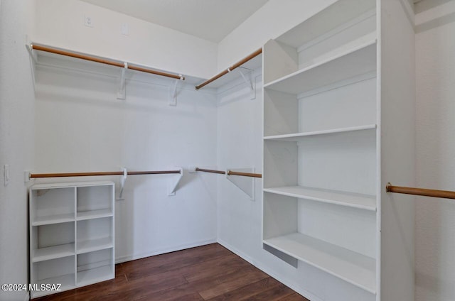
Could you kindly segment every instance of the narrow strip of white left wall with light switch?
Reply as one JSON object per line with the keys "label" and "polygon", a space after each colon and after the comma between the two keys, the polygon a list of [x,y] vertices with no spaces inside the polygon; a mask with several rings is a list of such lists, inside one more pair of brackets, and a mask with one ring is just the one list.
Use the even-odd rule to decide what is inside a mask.
{"label": "narrow strip of white left wall with light switch", "polygon": [[[33,28],[33,1],[0,4],[0,283],[28,283],[27,187],[33,166],[33,84],[24,47]],[[4,165],[10,168],[4,186]],[[26,292],[0,291],[0,300],[24,300]]]}

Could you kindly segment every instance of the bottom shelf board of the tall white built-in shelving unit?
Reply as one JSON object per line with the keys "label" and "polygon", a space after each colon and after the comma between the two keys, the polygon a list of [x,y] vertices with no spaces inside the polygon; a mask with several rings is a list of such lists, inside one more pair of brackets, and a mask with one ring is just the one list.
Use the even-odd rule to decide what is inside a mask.
{"label": "bottom shelf board of the tall white built-in shelving unit", "polygon": [[263,242],[358,288],[376,293],[374,258],[300,233],[278,236]]}

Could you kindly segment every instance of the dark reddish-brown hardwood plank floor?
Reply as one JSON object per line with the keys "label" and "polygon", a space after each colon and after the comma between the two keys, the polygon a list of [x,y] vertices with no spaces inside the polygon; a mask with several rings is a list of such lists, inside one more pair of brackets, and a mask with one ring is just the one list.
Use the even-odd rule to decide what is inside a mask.
{"label": "dark reddish-brown hardwood plank floor", "polygon": [[119,263],[115,274],[112,280],[33,300],[309,301],[218,243]]}

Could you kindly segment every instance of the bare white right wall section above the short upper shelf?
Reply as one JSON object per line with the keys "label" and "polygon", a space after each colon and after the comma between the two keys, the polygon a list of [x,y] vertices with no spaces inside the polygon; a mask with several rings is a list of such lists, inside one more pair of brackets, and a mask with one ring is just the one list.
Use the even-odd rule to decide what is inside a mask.
{"label": "bare white right wall section above the short upper shelf", "polygon": [[269,0],[218,45],[218,70],[245,58],[336,0]]}

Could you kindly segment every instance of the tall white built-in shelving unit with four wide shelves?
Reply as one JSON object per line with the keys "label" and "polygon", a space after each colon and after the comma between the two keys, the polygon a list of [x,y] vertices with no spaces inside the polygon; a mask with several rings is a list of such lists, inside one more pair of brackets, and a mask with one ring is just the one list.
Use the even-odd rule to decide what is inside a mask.
{"label": "tall white built-in shelving unit with four wide shelves", "polygon": [[383,191],[414,177],[406,9],[338,0],[263,49],[264,249],[350,300],[413,300],[412,197]]}

